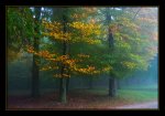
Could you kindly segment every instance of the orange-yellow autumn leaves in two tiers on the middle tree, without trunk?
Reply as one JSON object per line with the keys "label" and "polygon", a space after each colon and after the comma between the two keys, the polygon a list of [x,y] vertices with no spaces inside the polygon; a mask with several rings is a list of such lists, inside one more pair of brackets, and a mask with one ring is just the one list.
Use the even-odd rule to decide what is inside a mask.
{"label": "orange-yellow autumn leaves in two tiers on the middle tree, without trunk", "polygon": [[[70,23],[63,24],[62,22],[48,22],[46,20],[42,21],[43,36],[47,36],[51,40],[59,43],[86,43],[86,44],[99,44],[100,40],[98,35],[100,34],[100,25],[96,23],[84,23],[80,21],[75,21]],[[64,27],[68,31],[64,31]],[[28,52],[33,53],[46,60],[48,65],[41,67],[41,71],[50,70],[61,70],[64,66],[65,72],[81,73],[81,74],[99,74],[110,70],[109,67],[102,67],[102,70],[97,70],[95,65],[81,65],[85,61],[90,59],[89,54],[78,53],[75,57],[70,57],[69,53],[61,54],[58,51],[52,53],[52,51],[40,51],[36,52],[32,46],[28,46]],[[38,64],[38,63],[37,63]],[[61,66],[59,66],[61,64]],[[54,74],[55,77],[70,77],[70,74]]]}

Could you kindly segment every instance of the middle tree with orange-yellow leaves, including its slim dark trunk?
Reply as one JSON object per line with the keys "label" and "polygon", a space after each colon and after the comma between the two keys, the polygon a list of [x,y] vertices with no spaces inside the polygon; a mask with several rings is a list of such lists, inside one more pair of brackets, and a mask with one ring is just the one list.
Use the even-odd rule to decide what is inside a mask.
{"label": "middle tree with orange-yellow leaves, including its slim dark trunk", "polygon": [[[80,21],[68,21],[67,11],[68,8],[62,9],[61,22],[48,22],[43,20],[44,32],[43,35],[48,36],[55,42],[61,43],[61,51],[40,51],[36,52],[33,48],[29,48],[29,52],[36,54],[47,61],[47,64],[42,70],[58,70],[59,74],[54,74],[55,77],[61,77],[59,96],[61,102],[66,103],[66,78],[72,74],[98,74],[98,71],[94,65],[88,65],[85,61],[89,57],[87,54],[75,53],[68,54],[68,44],[88,43],[98,44],[100,41],[97,35],[100,33],[100,25]],[[96,39],[94,39],[94,35]],[[70,74],[68,74],[70,72]]]}

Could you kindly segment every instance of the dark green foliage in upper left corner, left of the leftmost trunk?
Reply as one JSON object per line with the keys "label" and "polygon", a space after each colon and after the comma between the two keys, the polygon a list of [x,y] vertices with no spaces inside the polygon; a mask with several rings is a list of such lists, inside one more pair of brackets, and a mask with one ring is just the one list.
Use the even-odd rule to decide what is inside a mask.
{"label": "dark green foliage in upper left corner, left of the leftmost trunk", "polygon": [[7,8],[8,62],[16,60],[33,36],[33,13],[29,8]]}

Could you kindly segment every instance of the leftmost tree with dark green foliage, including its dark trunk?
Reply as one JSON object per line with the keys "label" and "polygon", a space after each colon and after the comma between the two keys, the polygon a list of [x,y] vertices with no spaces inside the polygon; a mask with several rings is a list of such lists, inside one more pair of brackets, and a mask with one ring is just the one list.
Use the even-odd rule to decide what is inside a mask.
{"label": "leftmost tree with dark green foliage, including its dark trunk", "polygon": [[[35,51],[38,51],[41,8],[33,10],[34,12],[29,7],[8,8],[8,60],[11,62],[26,51],[26,45],[33,44]],[[32,97],[37,97],[40,94],[38,67],[35,62],[38,57],[34,54],[32,59]]]}

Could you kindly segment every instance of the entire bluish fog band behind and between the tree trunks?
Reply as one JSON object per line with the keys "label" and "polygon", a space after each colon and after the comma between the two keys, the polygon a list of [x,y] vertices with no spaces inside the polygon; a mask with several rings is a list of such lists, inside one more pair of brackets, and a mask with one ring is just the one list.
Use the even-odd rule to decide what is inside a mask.
{"label": "entire bluish fog band behind and between the tree trunks", "polygon": [[[30,56],[31,57],[31,56]],[[8,92],[28,92],[31,91],[31,59],[18,60],[8,64]],[[59,80],[54,78],[50,72],[40,72],[40,87],[44,89],[56,91],[59,86]],[[69,89],[74,88],[108,88],[109,75],[99,76],[73,76],[69,80]],[[136,71],[130,77],[118,80],[118,89],[121,88],[145,88],[158,87],[158,56],[155,56],[147,71]]]}

